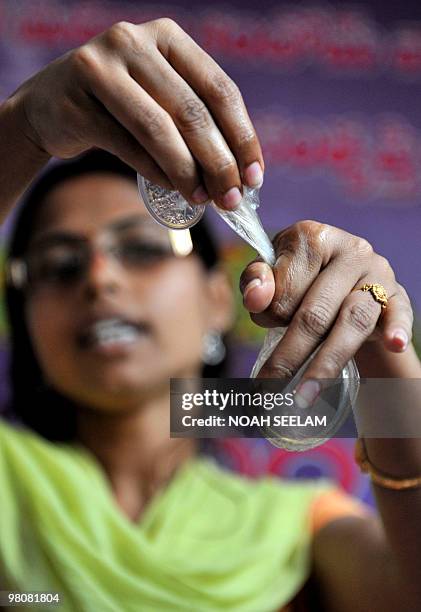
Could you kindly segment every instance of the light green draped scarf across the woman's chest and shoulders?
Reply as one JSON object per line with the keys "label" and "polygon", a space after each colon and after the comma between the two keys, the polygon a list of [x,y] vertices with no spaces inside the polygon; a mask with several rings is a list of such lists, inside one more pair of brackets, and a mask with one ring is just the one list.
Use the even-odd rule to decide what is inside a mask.
{"label": "light green draped scarf across the woman's chest and shoulders", "polygon": [[0,589],[58,592],[72,612],[279,610],[308,577],[326,487],[199,456],[133,523],[88,451],[0,422]]}

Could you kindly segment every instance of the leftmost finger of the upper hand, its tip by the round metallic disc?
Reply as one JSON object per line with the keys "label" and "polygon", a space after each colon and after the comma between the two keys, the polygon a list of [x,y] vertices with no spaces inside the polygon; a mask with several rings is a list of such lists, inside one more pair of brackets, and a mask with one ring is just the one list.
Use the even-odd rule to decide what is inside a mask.
{"label": "leftmost finger of the upper hand, its tip by the round metallic disc", "polygon": [[113,66],[112,73],[113,87],[101,73],[92,77],[92,93],[148,152],[169,178],[172,188],[191,200],[192,194],[201,187],[201,179],[196,162],[173,120],[121,66]]}

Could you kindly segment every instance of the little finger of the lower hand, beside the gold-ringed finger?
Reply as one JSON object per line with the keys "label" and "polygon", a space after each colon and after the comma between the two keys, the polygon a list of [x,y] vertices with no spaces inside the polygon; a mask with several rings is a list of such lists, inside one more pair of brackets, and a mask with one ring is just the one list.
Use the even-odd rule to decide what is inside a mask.
{"label": "little finger of the lower hand, beside the gold-ringed finger", "polygon": [[397,293],[393,299],[389,298],[379,321],[379,331],[386,348],[394,353],[404,352],[412,339],[413,322],[408,294],[401,285],[397,285]]}

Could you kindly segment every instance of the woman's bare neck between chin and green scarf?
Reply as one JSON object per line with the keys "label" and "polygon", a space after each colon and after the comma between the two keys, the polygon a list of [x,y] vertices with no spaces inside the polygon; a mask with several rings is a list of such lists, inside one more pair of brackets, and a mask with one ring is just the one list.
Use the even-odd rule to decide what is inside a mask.
{"label": "woman's bare neck between chin and green scarf", "polygon": [[139,518],[153,495],[197,452],[197,441],[170,438],[169,390],[125,414],[78,412],[78,439],[102,464],[121,509]]}

